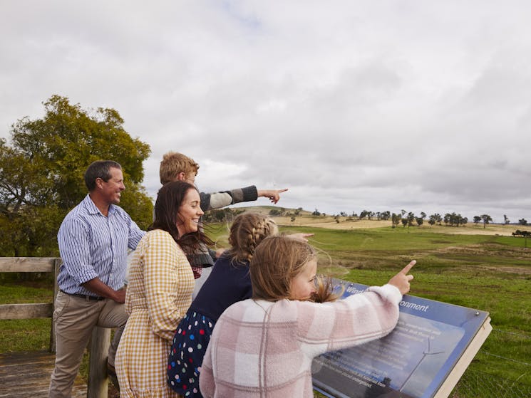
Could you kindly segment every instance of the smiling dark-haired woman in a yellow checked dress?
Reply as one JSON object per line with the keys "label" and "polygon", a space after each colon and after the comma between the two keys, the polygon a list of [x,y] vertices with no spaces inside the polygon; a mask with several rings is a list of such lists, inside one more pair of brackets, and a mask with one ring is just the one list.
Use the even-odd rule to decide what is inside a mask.
{"label": "smiling dark-haired woman in a yellow checked dress", "polygon": [[197,228],[202,214],[193,185],[170,182],[158,192],[155,221],[138,243],[130,268],[125,296],[130,315],[116,353],[121,397],[179,397],[167,387],[167,356],[194,288],[182,248],[212,243]]}

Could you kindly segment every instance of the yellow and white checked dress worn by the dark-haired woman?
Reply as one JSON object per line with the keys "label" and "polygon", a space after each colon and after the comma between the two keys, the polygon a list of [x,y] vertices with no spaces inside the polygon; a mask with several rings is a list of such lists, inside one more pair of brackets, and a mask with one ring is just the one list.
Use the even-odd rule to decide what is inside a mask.
{"label": "yellow and white checked dress worn by the dark-haired woman", "polygon": [[130,266],[129,319],[116,352],[120,397],[180,397],[167,387],[167,357],[193,289],[190,263],[170,234],[145,234]]}

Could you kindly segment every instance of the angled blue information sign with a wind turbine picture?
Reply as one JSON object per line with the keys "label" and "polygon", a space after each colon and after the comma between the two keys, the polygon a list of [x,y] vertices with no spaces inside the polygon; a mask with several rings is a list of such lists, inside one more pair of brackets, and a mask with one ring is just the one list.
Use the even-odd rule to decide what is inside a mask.
{"label": "angled blue information sign with a wind turbine picture", "polygon": [[[334,283],[341,298],[368,287]],[[314,387],[338,398],[448,397],[490,330],[485,311],[404,295],[389,335],[316,357]]]}

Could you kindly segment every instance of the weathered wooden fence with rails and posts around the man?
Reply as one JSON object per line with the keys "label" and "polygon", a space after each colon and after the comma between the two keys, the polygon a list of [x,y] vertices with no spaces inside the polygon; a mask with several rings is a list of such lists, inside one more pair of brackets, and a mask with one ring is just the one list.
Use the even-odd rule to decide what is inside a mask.
{"label": "weathered wooden fence with rails and posts around the man", "polygon": [[[0,320],[52,318],[50,330],[51,352],[56,351],[55,323],[53,322],[53,303],[57,293],[57,276],[61,258],[37,257],[0,257],[0,272],[41,272],[53,273],[52,303],[4,304],[0,305]],[[91,336],[91,357],[88,371],[88,398],[108,397],[107,352],[110,345],[110,330],[94,328]]]}

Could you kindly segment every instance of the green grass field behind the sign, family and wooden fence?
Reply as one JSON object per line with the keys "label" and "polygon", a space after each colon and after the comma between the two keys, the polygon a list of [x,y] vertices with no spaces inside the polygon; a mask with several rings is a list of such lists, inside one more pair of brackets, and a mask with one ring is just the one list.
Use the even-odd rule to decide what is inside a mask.
{"label": "green grass field behind the sign, family and wooden fence", "polygon": [[[225,225],[212,225],[208,231],[217,246],[227,247]],[[289,226],[281,231],[315,234],[309,241],[319,250],[319,271],[366,285],[386,283],[415,259],[411,295],[490,313],[493,332],[453,397],[482,396],[478,389],[485,388],[485,378],[493,389],[505,386],[506,391],[506,384],[516,381],[531,391],[531,249],[523,247],[522,238],[390,227],[346,231]],[[0,303],[46,302],[51,297],[51,281],[22,287],[9,278],[0,281]],[[1,321],[0,352],[46,349],[49,328],[49,320]],[[477,389],[470,387],[474,383]]]}

